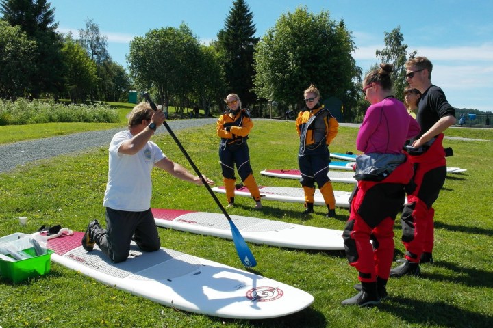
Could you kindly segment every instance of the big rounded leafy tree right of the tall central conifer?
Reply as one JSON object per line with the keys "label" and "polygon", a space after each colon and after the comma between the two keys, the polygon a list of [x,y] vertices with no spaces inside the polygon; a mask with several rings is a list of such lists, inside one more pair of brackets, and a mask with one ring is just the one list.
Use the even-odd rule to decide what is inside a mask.
{"label": "big rounded leafy tree right of the tall central conifer", "polygon": [[255,50],[255,92],[262,98],[301,107],[303,90],[314,84],[324,98],[334,96],[348,110],[352,80],[360,73],[343,21],[331,20],[327,11],[313,14],[300,7],[282,14]]}

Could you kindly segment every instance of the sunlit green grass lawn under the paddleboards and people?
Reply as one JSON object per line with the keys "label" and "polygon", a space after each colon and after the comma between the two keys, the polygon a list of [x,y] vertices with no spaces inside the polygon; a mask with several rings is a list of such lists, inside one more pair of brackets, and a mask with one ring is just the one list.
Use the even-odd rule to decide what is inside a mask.
{"label": "sunlit green grass lawn under the paddleboards and people", "polygon": [[[111,125],[111,124],[110,124]],[[36,126],[31,126],[36,130]],[[114,126],[108,126],[114,127]],[[0,127],[0,134],[3,127]],[[448,131],[447,131],[448,132]],[[340,128],[333,152],[355,151],[357,128]],[[448,165],[468,169],[450,174],[435,203],[435,264],[422,264],[422,277],[390,279],[389,297],[378,308],[343,307],[340,301],[355,294],[357,272],[343,251],[304,251],[249,244],[257,260],[253,270],[301,288],[315,297],[307,309],[270,320],[232,320],[181,312],[51,263],[51,272],[21,284],[0,279],[1,327],[490,327],[493,323],[493,169],[491,129],[454,128],[455,137],[490,141],[444,141],[454,156]],[[203,174],[222,184],[215,124],[177,137]],[[164,153],[190,169],[168,134],[154,141]],[[298,141],[293,122],[255,121],[250,139],[254,172],[297,167]],[[107,179],[108,146],[27,164],[0,174],[0,232],[31,233],[42,224],[60,223],[84,231],[91,219],[104,222],[102,206]],[[296,180],[256,173],[263,185],[299,187]],[[205,187],[196,187],[153,172],[156,208],[179,208],[220,213]],[[351,191],[350,184],[334,189]],[[218,195],[225,204],[225,196]],[[337,209],[336,219],[316,206],[309,219],[300,216],[302,204],[267,202],[253,210],[253,200],[237,197],[232,215],[262,217],[342,230],[348,211]],[[27,226],[18,217],[28,217]],[[403,255],[399,220],[395,225],[396,258]],[[159,228],[162,246],[244,269],[232,241]]]}

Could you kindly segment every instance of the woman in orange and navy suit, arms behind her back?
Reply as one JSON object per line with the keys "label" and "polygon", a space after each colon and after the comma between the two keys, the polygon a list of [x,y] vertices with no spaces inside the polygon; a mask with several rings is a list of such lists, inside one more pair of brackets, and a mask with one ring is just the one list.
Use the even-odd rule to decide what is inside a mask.
{"label": "woman in orange and navy suit, arms behind her back", "polygon": [[339,123],[329,109],[320,105],[320,92],[310,85],[303,93],[306,107],[296,118],[300,139],[298,165],[305,193],[304,215],[314,213],[315,182],[327,205],[327,217],[336,217],[336,198],[329,173],[329,145],[338,133]]}

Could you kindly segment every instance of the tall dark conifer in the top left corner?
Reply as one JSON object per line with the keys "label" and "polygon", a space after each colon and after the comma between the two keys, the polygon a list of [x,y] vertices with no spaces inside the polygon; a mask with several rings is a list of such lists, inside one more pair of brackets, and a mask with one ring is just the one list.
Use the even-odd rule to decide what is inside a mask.
{"label": "tall dark conifer in the top left corner", "polygon": [[37,51],[27,93],[38,98],[41,92],[58,94],[63,90],[62,36],[56,33],[58,23],[47,0],[2,0],[0,12],[11,26],[20,27],[29,40],[36,42]]}

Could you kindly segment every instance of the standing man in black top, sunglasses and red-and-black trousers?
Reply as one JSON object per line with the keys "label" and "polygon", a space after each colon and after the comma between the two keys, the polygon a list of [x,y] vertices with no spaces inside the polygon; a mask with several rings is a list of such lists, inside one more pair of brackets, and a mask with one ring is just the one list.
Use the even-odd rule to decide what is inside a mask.
{"label": "standing man in black top, sunglasses and red-and-black trousers", "polygon": [[414,150],[409,150],[417,187],[407,196],[401,215],[405,259],[403,264],[390,271],[390,277],[420,275],[419,264],[433,262],[433,203],[438,199],[446,178],[443,133],[455,124],[454,107],[448,103],[442,89],[431,84],[431,61],[427,57],[416,57],[407,61],[405,66],[407,83],[422,93],[416,115],[421,133],[411,140]]}

